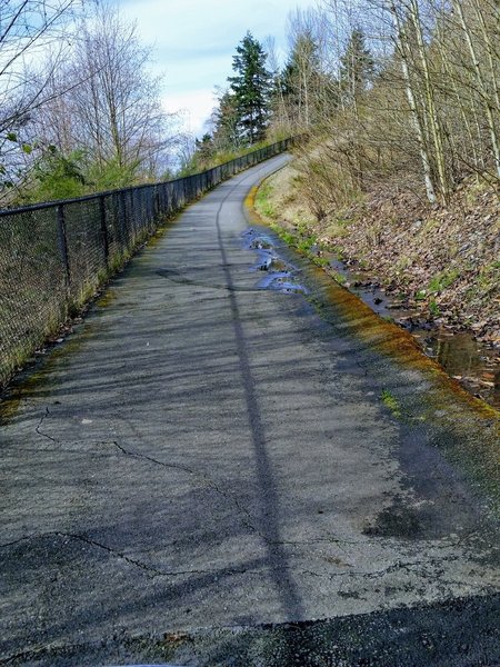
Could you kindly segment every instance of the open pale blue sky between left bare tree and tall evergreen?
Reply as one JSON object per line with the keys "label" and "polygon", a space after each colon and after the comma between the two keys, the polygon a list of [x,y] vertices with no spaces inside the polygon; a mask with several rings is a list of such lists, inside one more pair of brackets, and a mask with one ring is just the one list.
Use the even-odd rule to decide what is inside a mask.
{"label": "open pale blue sky between left bare tree and tall evergreen", "polygon": [[287,47],[287,16],[308,0],[119,0],[136,20],[141,41],[153,47],[154,73],[163,73],[167,111],[182,111],[187,131],[201,137],[216,106],[216,87],[226,87],[232,56],[248,30],[260,42],[272,36],[278,56]]}

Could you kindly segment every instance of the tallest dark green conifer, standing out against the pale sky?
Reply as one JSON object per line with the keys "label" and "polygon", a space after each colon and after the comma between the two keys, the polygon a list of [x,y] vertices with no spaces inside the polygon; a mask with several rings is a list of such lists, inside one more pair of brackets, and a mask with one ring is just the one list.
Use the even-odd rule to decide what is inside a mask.
{"label": "tallest dark green conifer, standing out against the pale sky", "polygon": [[247,32],[237,48],[229,77],[234,98],[240,137],[249,143],[263,139],[269,119],[271,74],[266,69],[262,46]]}

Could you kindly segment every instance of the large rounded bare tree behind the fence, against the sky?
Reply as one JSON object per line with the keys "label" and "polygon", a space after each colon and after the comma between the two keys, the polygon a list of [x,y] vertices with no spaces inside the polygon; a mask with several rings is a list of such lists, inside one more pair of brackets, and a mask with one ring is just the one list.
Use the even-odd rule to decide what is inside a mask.
{"label": "large rounded bare tree behind the fence, against the sky", "polygon": [[[60,94],[41,110],[39,133],[67,152],[83,150],[98,186],[129,185],[166,168],[171,117],[161,108],[150,60],[136,26],[117,6],[99,2],[79,26],[69,63],[51,79]],[[64,91],[68,81],[74,86]]]}

